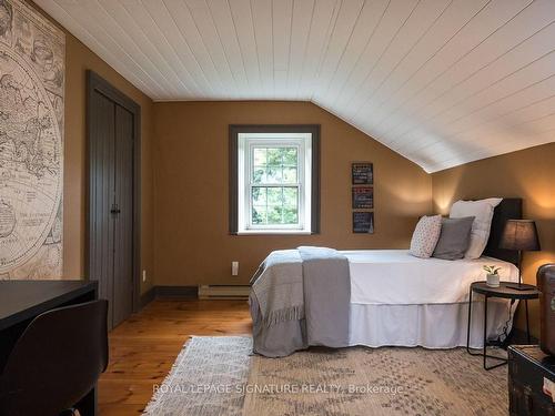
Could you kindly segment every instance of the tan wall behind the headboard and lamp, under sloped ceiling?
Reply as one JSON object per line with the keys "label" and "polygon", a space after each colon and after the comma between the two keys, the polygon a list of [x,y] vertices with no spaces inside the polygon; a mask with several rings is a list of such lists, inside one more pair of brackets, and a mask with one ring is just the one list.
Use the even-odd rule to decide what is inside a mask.
{"label": "tan wall behind the headboard and lamp, under sloped ceiling", "polygon": [[[446,213],[457,199],[522,197],[524,217],[536,220],[541,252],[524,254],[524,282],[535,284],[539,265],[555,262],[555,143],[467,163],[432,175],[434,210]],[[537,301],[531,323],[538,335]],[[523,325],[523,314],[518,326]]]}

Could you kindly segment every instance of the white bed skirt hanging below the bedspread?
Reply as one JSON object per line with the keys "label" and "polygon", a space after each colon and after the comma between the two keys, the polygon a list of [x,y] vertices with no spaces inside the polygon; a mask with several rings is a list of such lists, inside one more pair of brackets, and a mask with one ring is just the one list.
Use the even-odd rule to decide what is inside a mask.
{"label": "white bed skirt hanging below the bedspread", "polygon": [[[512,306],[512,315],[517,302]],[[487,337],[502,334],[508,319],[509,301],[490,298],[487,302]],[[424,305],[351,304],[350,345],[423,346],[454,348],[466,346],[468,303]],[[484,302],[472,305],[471,347],[482,348]],[[512,328],[508,323],[507,333]]]}

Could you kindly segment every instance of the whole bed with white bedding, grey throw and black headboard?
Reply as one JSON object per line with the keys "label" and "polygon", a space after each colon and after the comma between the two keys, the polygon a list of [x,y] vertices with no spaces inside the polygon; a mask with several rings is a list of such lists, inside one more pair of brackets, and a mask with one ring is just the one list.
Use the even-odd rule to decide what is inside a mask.
{"label": "whole bed with white bedding, grey throw and black headboard", "polygon": [[[502,281],[518,281],[515,266],[516,253],[498,248],[505,223],[509,219],[522,217],[522,200],[504,199],[495,207],[491,234],[483,256],[477,260],[446,261],[418,258],[405,250],[370,250],[339,252],[346,258],[344,267],[350,285],[333,286],[326,281],[325,273],[331,265],[323,267],[312,277],[319,282],[310,312],[306,287],[307,268],[302,268],[303,260],[296,264],[295,257],[289,262],[293,268],[283,268],[275,276],[278,287],[287,300],[303,292],[304,298],[297,303],[303,307],[281,311],[280,315],[268,319],[261,311],[260,296],[251,291],[250,306],[253,317],[254,352],[265,356],[284,356],[311,345],[332,347],[365,345],[380,346],[423,346],[426,348],[453,348],[466,345],[468,287],[472,282],[484,280],[482,266],[501,266]],[[293,251],[274,252],[273,258],[282,255],[293,256]],[[297,268],[294,268],[297,266]],[[303,274],[295,281],[297,274]],[[317,270],[317,268],[316,268]],[[301,272],[299,272],[301,271]],[[341,273],[334,271],[334,273]],[[260,284],[260,276],[253,278],[253,287]],[[304,283],[303,283],[304,282]],[[296,284],[296,286],[295,286]],[[270,286],[275,288],[275,284]],[[279,302],[272,288],[266,291],[266,303]],[[261,293],[260,290],[258,292]],[[287,297],[289,296],[289,297]],[[345,308],[332,311],[332,304],[340,303]],[[291,302],[291,301],[290,301]],[[304,305],[303,302],[306,304]],[[291,302],[294,303],[294,302]],[[517,304],[505,300],[492,300],[488,305],[488,338],[507,334],[512,328],[512,316]],[[312,313],[312,316],[307,316]],[[475,297],[473,322],[471,323],[471,346],[482,347],[483,302]],[[313,323],[325,322],[332,333],[311,339]],[[335,331],[335,333],[333,333]],[[343,331],[343,333],[342,333]],[[307,334],[309,332],[309,334]]]}

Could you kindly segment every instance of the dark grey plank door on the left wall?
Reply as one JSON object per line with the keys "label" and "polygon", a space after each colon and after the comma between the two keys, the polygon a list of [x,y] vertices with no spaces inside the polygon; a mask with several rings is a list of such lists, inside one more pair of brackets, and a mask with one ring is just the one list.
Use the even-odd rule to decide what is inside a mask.
{"label": "dark grey plank door on the left wall", "polygon": [[99,297],[109,301],[110,328],[134,308],[135,118],[118,97],[89,85],[88,268],[99,282]]}

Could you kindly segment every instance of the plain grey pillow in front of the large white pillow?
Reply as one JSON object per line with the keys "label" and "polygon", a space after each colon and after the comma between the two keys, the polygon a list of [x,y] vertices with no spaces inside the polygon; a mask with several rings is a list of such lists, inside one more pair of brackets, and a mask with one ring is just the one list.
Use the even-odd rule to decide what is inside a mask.
{"label": "plain grey pillow in front of the large white pillow", "polygon": [[458,260],[471,244],[471,230],[474,216],[462,219],[443,219],[440,240],[432,257],[443,260]]}

